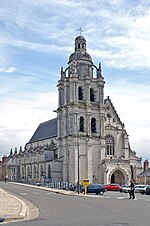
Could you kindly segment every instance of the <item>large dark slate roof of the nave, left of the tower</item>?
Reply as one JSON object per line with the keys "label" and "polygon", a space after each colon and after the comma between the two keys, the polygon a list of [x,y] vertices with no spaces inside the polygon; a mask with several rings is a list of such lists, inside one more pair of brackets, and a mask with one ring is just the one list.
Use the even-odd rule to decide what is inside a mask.
{"label": "large dark slate roof of the nave, left of the tower", "polygon": [[37,130],[28,143],[48,139],[57,136],[57,118],[40,123]]}

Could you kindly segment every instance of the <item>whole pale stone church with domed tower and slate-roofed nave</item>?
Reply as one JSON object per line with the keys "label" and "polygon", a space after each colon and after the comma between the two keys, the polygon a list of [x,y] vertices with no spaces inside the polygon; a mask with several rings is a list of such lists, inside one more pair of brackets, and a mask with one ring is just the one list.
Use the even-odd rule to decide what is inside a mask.
{"label": "whole pale stone church with domed tower and slate-roofed nave", "polygon": [[[104,98],[101,64],[94,65],[86,39],[75,38],[68,67],[61,68],[56,118],[40,123],[17,154],[19,179],[127,184],[142,171],[141,158],[110,97]],[[11,166],[11,158],[8,164]]]}

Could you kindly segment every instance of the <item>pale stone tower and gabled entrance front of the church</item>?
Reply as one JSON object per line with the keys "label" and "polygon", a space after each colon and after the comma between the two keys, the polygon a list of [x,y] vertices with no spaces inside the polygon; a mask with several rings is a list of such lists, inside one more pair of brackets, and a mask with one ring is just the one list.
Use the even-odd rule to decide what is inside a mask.
{"label": "pale stone tower and gabled entrance front of the church", "polygon": [[[101,64],[96,67],[82,36],[75,39],[69,67],[58,82],[58,154],[63,180],[129,183],[141,172],[141,159],[129,145],[128,134],[113,104],[104,100]],[[68,135],[71,134],[71,141]],[[88,142],[86,137],[88,136]],[[79,177],[79,178],[78,178]]]}

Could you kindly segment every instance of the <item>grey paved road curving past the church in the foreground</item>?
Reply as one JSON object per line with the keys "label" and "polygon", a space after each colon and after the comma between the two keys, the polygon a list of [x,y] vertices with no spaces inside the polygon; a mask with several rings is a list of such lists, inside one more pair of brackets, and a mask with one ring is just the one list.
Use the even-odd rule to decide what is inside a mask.
{"label": "grey paved road curving past the church in the foreground", "polygon": [[150,226],[150,196],[106,192],[104,196],[62,195],[48,190],[3,183],[3,188],[34,203],[40,211],[32,221],[15,226]]}

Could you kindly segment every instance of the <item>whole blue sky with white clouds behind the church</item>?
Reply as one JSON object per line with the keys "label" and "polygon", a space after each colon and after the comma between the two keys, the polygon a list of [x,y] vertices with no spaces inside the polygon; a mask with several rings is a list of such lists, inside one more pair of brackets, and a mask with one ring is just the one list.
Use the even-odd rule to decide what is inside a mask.
{"label": "whole blue sky with white clouds behind the church", "polygon": [[150,160],[150,3],[147,0],[0,0],[0,158],[56,117],[60,68],[80,34],[102,64],[130,146]]}

